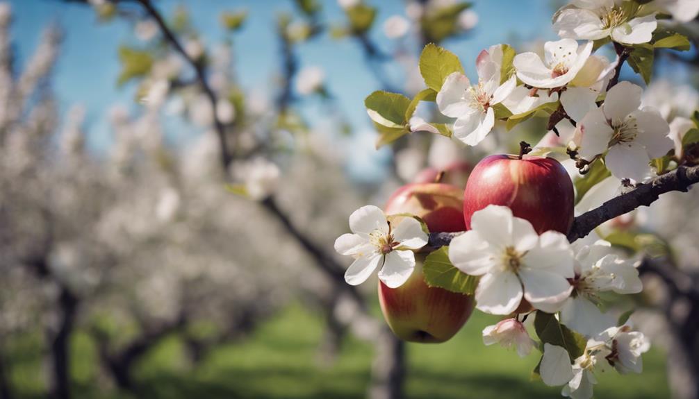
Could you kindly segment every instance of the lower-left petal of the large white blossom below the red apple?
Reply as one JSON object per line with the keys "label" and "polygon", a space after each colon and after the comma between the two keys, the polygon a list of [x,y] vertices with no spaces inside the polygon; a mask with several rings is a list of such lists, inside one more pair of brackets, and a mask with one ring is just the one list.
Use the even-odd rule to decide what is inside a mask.
{"label": "lower-left petal of the large white blossom below the red apple", "polygon": [[521,298],[521,283],[510,271],[484,275],[475,294],[476,308],[492,315],[509,315],[517,309]]}

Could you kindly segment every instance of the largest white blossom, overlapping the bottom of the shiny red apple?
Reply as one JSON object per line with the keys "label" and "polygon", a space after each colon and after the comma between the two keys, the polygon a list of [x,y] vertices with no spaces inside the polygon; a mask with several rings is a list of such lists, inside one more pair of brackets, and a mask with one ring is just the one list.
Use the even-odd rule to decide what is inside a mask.
{"label": "largest white blossom, overlapping the bottom of the shiny red apple", "polygon": [[522,298],[554,312],[572,290],[567,279],[575,276],[565,235],[549,231],[539,236],[506,206],[473,213],[471,229],[452,240],[449,259],[464,273],[482,276],[476,307],[496,315],[512,313]]}

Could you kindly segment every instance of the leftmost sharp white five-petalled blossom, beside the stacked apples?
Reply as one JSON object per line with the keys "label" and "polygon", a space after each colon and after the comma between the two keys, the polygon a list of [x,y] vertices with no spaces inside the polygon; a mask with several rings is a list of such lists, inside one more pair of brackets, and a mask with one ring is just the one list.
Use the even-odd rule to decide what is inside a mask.
{"label": "leftmost sharp white five-petalled blossom, beside the stacked apples", "polygon": [[377,206],[366,205],[349,216],[352,234],[343,234],[335,241],[335,250],[354,257],[345,273],[349,285],[366,281],[377,267],[379,279],[388,287],[405,283],[415,269],[415,253],[427,244],[427,234],[414,218],[402,218],[389,224]]}

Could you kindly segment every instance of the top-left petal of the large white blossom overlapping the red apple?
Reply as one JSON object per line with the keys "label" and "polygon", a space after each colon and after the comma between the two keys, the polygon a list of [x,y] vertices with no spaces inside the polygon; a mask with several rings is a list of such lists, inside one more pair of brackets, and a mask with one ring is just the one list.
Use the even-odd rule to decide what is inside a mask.
{"label": "top-left petal of the large white blossom overlapping the red apple", "polygon": [[[471,231],[491,246],[493,251],[502,251],[512,246],[512,210],[507,206],[489,205],[471,216]],[[533,230],[533,228],[532,228]]]}

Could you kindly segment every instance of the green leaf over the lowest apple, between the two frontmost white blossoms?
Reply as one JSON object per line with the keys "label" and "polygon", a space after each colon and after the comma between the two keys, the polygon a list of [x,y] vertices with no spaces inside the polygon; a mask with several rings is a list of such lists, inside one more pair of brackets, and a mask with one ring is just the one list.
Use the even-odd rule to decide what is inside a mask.
{"label": "green leaf over the lowest apple, between the two frontmost white blossoms", "polygon": [[430,287],[440,287],[451,292],[473,295],[478,285],[476,276],[463,273],[449,261],[447,246],[427,255],[422,273],[425,275],[425,283]]}

